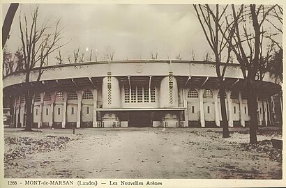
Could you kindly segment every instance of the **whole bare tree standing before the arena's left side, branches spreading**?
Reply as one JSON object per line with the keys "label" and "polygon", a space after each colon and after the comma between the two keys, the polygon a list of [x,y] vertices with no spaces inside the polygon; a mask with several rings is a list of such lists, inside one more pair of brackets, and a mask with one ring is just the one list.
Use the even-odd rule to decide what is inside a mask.
{"label": "whole bare tree standing before the arena's left side, branches spreading", "polygon": [[[47,63],[49,54],[59,49],[63,45],[59,45],[61,41],[61,29],[59,29],[59,21],[55,23],[54,31],[49,33],[48,30],[51,25],[48,21],[43,22],[38,26],[38,10],[37,6],[34,12],[31,14],[31,24],[28,24],[28,17],[24,15],[22,20],[20,15],[20,36],[22,41],[22,52],[24,56],[24,74],[26,76],[24,82],[24,97],[25,97],[25,111],[27,113],[25,122],[25,131],[31,131],[32,125],[32,97],[33,87],[31,86],[31,70],[38,67],[38,78],[36,81],[40,81],[41,75],[43,75],[43,65]],[[66,44],[64,44],[66,45]]]}

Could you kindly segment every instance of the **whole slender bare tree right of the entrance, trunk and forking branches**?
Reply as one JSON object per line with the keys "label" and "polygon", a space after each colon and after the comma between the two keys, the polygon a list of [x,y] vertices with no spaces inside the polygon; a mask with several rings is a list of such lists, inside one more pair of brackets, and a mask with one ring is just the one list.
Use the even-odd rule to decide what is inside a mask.
{"label": "whole slender bare tree right of the entrance, trunk and forking branches", "polygon": [[[234,35],[233,30],[231,30],[232,32],[227,32],[229,31],[229,26],[232,25],[226,25],[225,20],[223,19],[228,6],[222,6],[221,10],[218,4],[214,8],[211,8],[211,6],[208,4],[193,5],[193,7],[195,8],[197,19],[199,19],[204,31],[206,41],[208,42],[215,56],[216,75],[218,76],[219,82],[220,109],[223,120],[223,138],[227,138],[229,137],[229,129],[227,123],[227,110],[225,107],[224,77],[227,65],[229,65],[231,57],[231,49],[227,48],[227,45],[228,41],[232,40]],[[225,63],[222,63],[224,54],[226,54],[226,60]],[[209,60],[209,52],[207,52],[204,61]],[[221,70],[221,67],[223,67],[223,70]]]}

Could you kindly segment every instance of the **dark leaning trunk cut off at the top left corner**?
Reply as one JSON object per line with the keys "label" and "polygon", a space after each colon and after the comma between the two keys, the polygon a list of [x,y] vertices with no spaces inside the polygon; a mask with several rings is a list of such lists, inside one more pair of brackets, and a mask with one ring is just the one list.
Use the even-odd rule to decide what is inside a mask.
{"label": "dark leaning trunk cut off at the top left corner", "polygon": [[18,9],[18,6],[19,6],[19,3],[10,3],[10,6],[8,8],[8,12],[6,14],[6,17],[4,19],[4,23],[2,26],[2,49],[4,48],[6,44],[6,40],[9,38],[10,29],[12,26],[15,13]]}

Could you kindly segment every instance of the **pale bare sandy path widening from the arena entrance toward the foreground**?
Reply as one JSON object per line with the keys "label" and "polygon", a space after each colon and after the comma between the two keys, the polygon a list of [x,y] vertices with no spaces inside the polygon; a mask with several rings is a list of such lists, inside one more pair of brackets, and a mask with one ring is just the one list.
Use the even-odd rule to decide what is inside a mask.
{"label": "pale bare sandy path widening from the arena entrance toward the foreground", "polygon": [[69,141],[66,149],[15,159],[19,166],[6,169],[5,176],[277,179],[282,171],[282,164],[264,153],[241,150],[240,143],[248,141],[248,134],[234,133],[232,138],[222,139],[206,129],[134,128],[77,130],[77,135],[70,137],[75,140]]}

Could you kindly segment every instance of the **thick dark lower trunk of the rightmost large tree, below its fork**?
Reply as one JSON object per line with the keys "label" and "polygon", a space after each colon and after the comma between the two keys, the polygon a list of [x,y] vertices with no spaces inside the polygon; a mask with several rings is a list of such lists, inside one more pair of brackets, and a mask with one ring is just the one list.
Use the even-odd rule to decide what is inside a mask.
{"label": "thick dark lower trunk of the rightmost large tree, below its fork", "polygon": [[253,89],[253,81],[248,79],[246,88],[248,94],[248,116],[250,118],[250,143],[257,143],[257,93]]}

